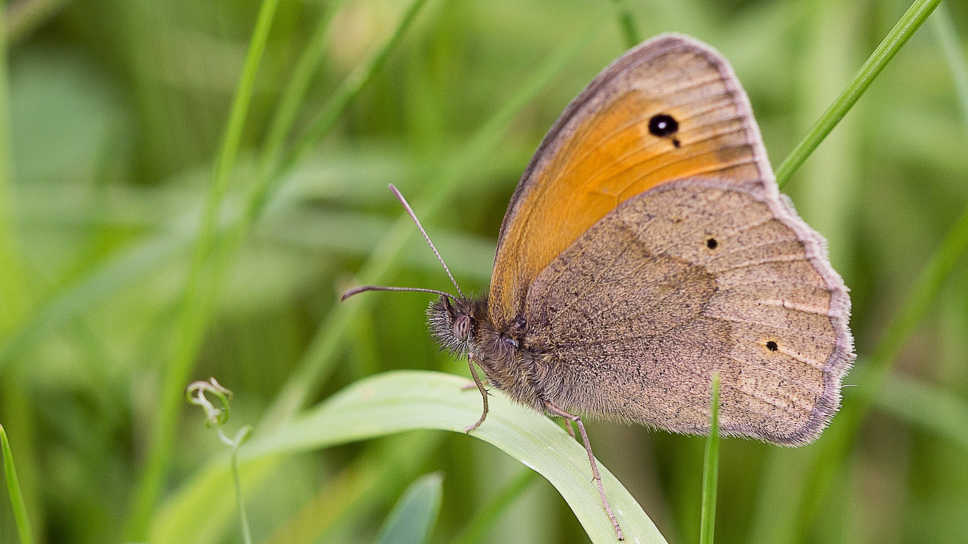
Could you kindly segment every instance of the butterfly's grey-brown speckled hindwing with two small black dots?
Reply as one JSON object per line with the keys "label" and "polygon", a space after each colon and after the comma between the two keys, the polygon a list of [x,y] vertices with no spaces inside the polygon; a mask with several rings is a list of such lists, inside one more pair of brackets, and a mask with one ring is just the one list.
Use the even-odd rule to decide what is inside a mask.
{"label": "butterfly's grey-brown speckled hindwing with two small black dots", "polygon": [[549,399],[679,433],[799,444],[840,400],[850,301],[823,240],[778,196],[692,178],[610,212],[534,280],[524,348]]}

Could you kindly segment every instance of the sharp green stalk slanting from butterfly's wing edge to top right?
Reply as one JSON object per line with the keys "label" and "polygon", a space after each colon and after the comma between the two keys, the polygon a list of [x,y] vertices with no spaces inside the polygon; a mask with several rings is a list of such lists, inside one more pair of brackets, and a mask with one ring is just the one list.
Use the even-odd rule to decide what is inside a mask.
{"label": "sharp green stalk slanting from butterfly's wing edge to top right", "polygon": [[776,184],[779,187],[782,188],[790,181],[790,178],[802,166],[803,162],[820,145],[820,142],[831,134],[833,128],[847,115],[851,107],[857,104],[867,87],[888,66],[894,55],[907,44],[907,41],[921,28],[927,16],[931,15],[931,12],[940,3],[941,0],[915,0],[908,11],[901,15],[900,20],[897,21],[891,32],[870,54],[867,61],[863,63],[861,70],[851,79],[840,96],[833,101],[833,104],[827,108],[827,111],[820,116],[817,123],[810,129],[810,132],[803,136],[797,147],[776,168]]}

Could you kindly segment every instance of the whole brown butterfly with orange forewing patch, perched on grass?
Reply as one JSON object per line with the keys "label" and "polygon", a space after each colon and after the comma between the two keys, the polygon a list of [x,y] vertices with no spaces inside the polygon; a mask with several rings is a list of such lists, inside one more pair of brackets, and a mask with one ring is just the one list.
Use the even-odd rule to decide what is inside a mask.
{"label": "whole brown butterfly with orange forewing patch, perched on grass", "polygon": [[579,413],[708,434],[718,373],[722,434],[799,445],[830,422],[854,359],[826,241],[779,194],[729,63],[686,36],[629,50],[572,101],[511,197],[490,293],[457,288],[344,297],[438,292],[431,331],[484,398],[468,432],[487,416],[474,363],[577,423],[620,539]]}

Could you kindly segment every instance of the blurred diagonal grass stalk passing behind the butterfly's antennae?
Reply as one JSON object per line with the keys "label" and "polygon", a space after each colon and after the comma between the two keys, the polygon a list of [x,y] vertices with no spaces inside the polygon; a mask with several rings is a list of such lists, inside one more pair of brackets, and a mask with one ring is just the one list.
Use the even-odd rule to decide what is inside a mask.
{"label": "blurred diagonal grass stalk passing behind the butterfly's antennae", "polygon": [[[439,174],[428,182],[424,194],[414,201],[413,208],[419,217],[426,218],[439,210],[469,172],[486,160],[488,154],[498,145],[504,130],[517,112],[590,43],[600,24],[601,19],[595,21],[584,35],[554,52],[532,73],[518,92],[477,130],[464,149],[454,154],[438,169]],[[378,248],[363,264],[357,275],[359,283],[379,284],[390,277],[399,266],[400,258],[415,231],[409,217],[406,214],[401,215]],[[320,323],[295,373],[287,379],[282,392],[272,407],[266,411],[260,424],[261,428],[282,424],[305,405],[311,392],[328,378],[335,355],[350,328],[350,323],[375,298],[373,296],[350,298],[329,312]]]}

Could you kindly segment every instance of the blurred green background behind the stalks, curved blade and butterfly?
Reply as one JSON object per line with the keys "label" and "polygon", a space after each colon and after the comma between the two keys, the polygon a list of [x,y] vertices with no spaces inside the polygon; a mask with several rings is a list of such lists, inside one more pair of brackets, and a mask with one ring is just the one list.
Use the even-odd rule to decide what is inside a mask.
{"label": "blurred green background behind the stalks, curved blade and butterfly", "polygon": [[[8,4],[12,152],[0,193],[0,238],[10,242],[0,250],[0,423],[39,541],[120,542],[152,447],[193,240],[260,4]],[[293,145],[408,5],[281,0],[231,170],[229,212],[258,178],[271,119],[320,21],[329,21],[316,45],[321,65],[296,113]],[[234,391],[233,429],[256,424],[273,404],[338,293],[358,281],[354,274],[401,216],[386,184],[419,199],[544,59],[591,29],[588,45],[427,218],[465,290],[485,291],[500,220],[531,153],[568,101],[626,48],[617,10],[628,10],[643,39],[672,30],[719,48],[750,95],[775,165],[907,8],[897,0],[618,6],[430,0],[419,11],[332,132],[286,170],[212,298],[190,378],[214,376]],[[968,3],[947,9],[958,34],[968,36]],[[862,356],[968,205],[968,117],[951,74],[929,20],[785,188],[830,240],[833,265],[852,289]],[[400,262],[391,285],[449,287],[422,240],[411,237]],[[374,303],[348,323],[312,402],[386,370],[467,373],[432,345],[426,296],[367,296]],[[835,470],[832,492],[808,514],[798,505],[804,482],[797,479],[807,448],[725,440],[717,541],[968,542],[968,421],[960,438],[956,428],[968,413],[963,263],[895,365],[893,383],[936,395],[955,420],[953,432],[897,415],[892,398],[882,397]],[[922,419],[945,414],[924,408]],[[669,542],[696,542],[703,439],[589,427],[598,458]],[[163,500],[224,449],[197,410],[182,406]],[[479,440],[439,432],[300,454],[248,490],[255,539],[372,542],[408,484],[434,470],[443,475],[443,495],[431,541],[444,543],[527,469]],[[547,482],[528,480],[524,489],[483,541],[588,541]],[[284,532],[307,518],[319,535]],[[781,518],[796,530],[783,529]],[[0,542],[15,541],[3,499]],[[198,541],[241,536],[233,522]]]}

